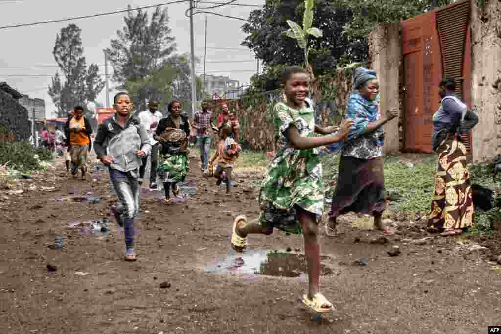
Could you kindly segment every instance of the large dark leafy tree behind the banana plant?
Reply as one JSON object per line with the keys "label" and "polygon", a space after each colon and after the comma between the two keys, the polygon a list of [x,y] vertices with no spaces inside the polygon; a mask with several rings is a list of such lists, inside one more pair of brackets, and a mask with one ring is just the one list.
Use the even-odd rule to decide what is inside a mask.
{"label": "large dark leafy tree behind the banana plant", "polygon": [[[304,51],[286,35],[287,20],[302,22],[304,12],[303,0],[267,0],[263,9],[251,12],[250,22],[242,26],[247,36],[241,45],[252,49],[256,58],[264,63],[263,74],[253,78],[253,86],[258,90],[278,88],[283,65],[304,63]],[[323,32],[322,37],[309,42],[312,49],[309,62],[315,76],[334,71],[338,62],[345,58],[347,62],[367,58],[367,45],[354,47],[344,36],[343,27],[351,21],[351,10],[333,7],[330,0],[317,0],[313,12],[315,26]]]}

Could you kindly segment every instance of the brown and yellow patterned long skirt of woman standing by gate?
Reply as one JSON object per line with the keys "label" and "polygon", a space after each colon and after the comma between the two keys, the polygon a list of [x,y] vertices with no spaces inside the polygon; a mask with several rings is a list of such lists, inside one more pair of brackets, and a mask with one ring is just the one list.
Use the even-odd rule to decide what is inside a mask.
{"label": "brown and yellow patterned long skirt of woman standing by gate", "polygon": [[428,228],[460,229],[473,226],[473,201],[466,148],[448,138],[438,147],[438,172],[431,198]]}

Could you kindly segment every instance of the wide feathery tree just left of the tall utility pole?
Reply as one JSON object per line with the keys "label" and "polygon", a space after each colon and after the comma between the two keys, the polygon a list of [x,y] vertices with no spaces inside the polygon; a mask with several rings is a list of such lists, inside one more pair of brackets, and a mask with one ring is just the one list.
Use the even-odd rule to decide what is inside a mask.
{"label": "wide feathery tree just left of the tall utility pole", "polygon": [[106,51],[117,88],[132,89],[129,93],[134,104],[138,110],[144,110],[148,100],[165,103],[172,95],[167,89],[171,86],[168,80],[174,80],[175,75],[169,72],[174,70],[168,59],[176,45],[170,36],[167,9],[157,7],[151,19],[147,12],[136,13],[129,11],[124,17],[125,27],[117,32],[118,39],[112,40]]}

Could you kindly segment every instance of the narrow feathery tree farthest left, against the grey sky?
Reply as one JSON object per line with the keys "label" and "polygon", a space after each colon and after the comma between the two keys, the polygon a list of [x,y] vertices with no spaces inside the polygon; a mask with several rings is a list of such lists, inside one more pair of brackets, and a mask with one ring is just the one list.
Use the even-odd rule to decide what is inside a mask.
{"label": "narrow feathery tree farthest left, against the grey sky", "polygon": [[59,117],[66,116],[75,105],[86,105],[94,101],[105,85],[99,74],[99,67],[91,64],[87,67],[80,37],[81,29],[74,24],[61,29],[56,35],[53,55],[64,77],[59,74],[52,78],[49,86],[51,96]]}

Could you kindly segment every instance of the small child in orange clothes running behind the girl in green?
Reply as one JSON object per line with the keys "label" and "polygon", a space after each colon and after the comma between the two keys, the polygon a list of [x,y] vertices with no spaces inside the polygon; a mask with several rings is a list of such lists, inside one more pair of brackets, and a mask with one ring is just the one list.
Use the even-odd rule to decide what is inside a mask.
{"label": "small child in orange clothes running behind the girl in green", "polygon": [[[213,175],[217,179],[217,186],[219,186],[223,180],[226,182],[226,194],[231,192],[231,174],[236,159],[238,159],[238,153],[241,150],[240,145],[231,138],[232,133],[233,129],[229,125],[225,124],[221,127],[219,130],[217,150],[209,160],[209,172],[213,171]],[[225,177],[223,177],[223,175],[225,175]]]}

